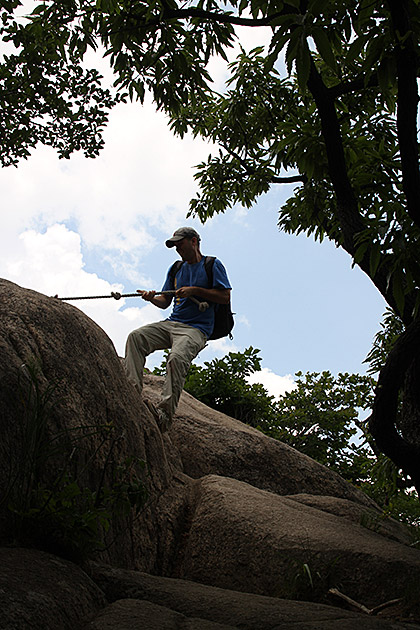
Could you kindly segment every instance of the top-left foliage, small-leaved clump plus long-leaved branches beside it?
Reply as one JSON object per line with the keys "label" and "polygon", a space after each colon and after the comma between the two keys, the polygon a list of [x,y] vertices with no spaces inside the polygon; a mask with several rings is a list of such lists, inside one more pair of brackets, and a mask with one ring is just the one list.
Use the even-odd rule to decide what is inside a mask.
{"label": "top-left foliage, small-leaved clump plus long-leaved branches beside it", "polygon": [[[49,0],[24,16],[20,7],[9,1],[0,9],[5,166],[28,157],[38,142],[56,148],[60,157],[80,149],[96,156],[108,111],[118,101],[129,96],[142,102],[148,89],[159,108],[176,111],[191,94],[208,91],[208,59],[225,56],[233,38],[229,24],[165,19],[176,3]],[[96,70],[84,67],[86,52],[99,47],[115,73],[117,97],[100,87]]]}

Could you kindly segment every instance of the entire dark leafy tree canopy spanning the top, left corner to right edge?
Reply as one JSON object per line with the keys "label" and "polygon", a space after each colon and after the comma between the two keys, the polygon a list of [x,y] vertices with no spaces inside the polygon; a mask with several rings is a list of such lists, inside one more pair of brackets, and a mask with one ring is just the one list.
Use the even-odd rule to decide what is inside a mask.
{"label": "entire dark leafy tree canopy spanning the top, left corner to right edge", "polygon": [[[1,9],[16,53],[0,66],[1,159],[37,142],[94,156],[116,99],[83,67],[104,51],[118,99],[149,90],[172,128],[215,141],[191,212],[206,220],[251,206],[273,184],[298,187],[279,226],[332,239],[410,323],[419,306],[420,173],[415,0],[46,0],[18,19]],[[225,94],[207,64],[237,25],[268,27],[268,48],[241,52]]]}

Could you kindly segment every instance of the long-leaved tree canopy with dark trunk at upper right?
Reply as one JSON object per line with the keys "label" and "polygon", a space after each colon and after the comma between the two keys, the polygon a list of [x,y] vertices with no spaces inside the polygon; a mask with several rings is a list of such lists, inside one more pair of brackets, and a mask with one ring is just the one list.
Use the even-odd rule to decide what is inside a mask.
{"label": "long-leaved tree canopy with dark trunk at upper right", "polygon": [[277,4],[268,54],[242,51],[226,93],[191,101],[172,126],[220,147],[198,167],[193,214],[204,221],[273,184],[300,184],[279,227],[343,247],[409,323],[420,286],[420,10],[402,5]]}

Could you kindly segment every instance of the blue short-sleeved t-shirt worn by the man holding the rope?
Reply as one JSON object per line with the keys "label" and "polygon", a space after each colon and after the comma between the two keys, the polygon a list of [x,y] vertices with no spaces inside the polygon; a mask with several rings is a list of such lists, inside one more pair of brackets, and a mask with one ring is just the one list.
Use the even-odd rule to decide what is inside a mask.
{"label": "blue short-sleeved t-shirt worn by the man holding the rope", "polygon": [[[171,291],[181,287],[204,287],[205,289],[230,289],[226,269],[217,258],[213,265],[213,286],[209,285],[206,269],[204,267],[205,256],[198,263],[192,265],[184,262],[175,276],[175,287],[169,270],[162,291]],[[198,296],[197,296],[198,299]],[[201,330],[206,337],[210,337],[214,328],[214,302],[209,302],[210,308],[201,312],[198,304],[189,298],[174,298],[173,310],[168,318],[173,322],[188,324]]]}

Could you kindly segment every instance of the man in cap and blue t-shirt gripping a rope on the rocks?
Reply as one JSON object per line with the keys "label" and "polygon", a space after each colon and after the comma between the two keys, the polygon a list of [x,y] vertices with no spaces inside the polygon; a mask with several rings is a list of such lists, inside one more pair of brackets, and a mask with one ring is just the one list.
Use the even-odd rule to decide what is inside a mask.
{"label": "man in cap and blue t-shirt gripping a rope on the rocks", "polygon": [[[213,332],[214,305],[228,304],[231,291],[226,270],[217,258],[213,265],[213,286],[209,286],[205,258],[200,251],[200,235],[193,228],[179,228],[166,241],[166,246],[175,247],[182,259],[174,278],[171,268],[168,270],[162,289],[174,290],[175,295],[141,290],[138,293],[143,300],[162,309],[167,308],[174,297],[172,313],[164,321],[133,330],[127,338],[125,355],[127,375],[141,392],[147,355],[170,348],[161,400],[156,409],[152,407],[162,432],[172,423],[192,360]],[[209,308],[200,309],[197,301],[208,302]]]}

